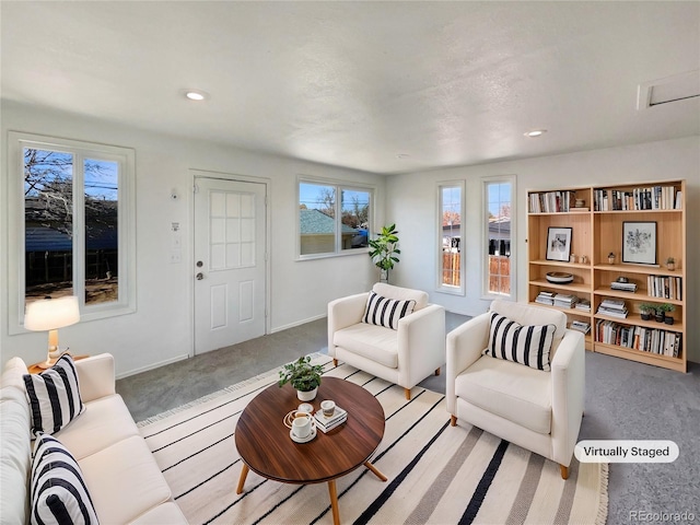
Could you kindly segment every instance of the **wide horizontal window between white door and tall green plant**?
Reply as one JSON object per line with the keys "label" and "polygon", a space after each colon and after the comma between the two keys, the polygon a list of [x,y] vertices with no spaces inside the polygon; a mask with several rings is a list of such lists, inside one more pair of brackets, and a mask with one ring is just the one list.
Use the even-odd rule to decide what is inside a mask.
{"label": "wide horizontal window between white door and tall green plant", "polygon": [[349,254],[366,248],[372,199],[370,188],[300,179],[300,257]]}

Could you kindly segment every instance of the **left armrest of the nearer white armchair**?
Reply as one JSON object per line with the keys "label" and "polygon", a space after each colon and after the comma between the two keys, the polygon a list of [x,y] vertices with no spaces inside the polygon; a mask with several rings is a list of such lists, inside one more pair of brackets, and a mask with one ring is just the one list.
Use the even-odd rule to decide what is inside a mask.
{"label": "left armrest of the nearer white armchair", "polygon": [[478,315],[447,334],[445,400],[447,411],[456,415],[455,380],[481,357],[489,343],[489,314]]}

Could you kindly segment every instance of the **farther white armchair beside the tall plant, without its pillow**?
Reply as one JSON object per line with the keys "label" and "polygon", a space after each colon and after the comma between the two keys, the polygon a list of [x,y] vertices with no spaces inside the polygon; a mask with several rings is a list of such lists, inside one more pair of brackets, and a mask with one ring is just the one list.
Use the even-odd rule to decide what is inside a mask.
{"label": "farther white armchair beside the tall plant, without its pillow", "polygon": [[422,380],[445,363],[445,308],[428,304],[428,293],[376,283],[377,295],[415,301],[413,313],[397,329],[363,323],[370,292],[328,303],[328,354],[390,383],[402,386],[406,398]]}

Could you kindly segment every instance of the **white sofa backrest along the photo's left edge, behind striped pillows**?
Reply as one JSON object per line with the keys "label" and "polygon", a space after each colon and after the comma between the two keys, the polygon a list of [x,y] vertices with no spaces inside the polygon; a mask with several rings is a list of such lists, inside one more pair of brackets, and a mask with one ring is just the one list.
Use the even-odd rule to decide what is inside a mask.
{"label": "white sofa backrest along the photo's left edge, behind striped pillows", "polygon": [[26,365],[13,358],[4,366],[0,388],[0,523],[28,523],[27,479],[32,468],[30,405],[24,394]]}

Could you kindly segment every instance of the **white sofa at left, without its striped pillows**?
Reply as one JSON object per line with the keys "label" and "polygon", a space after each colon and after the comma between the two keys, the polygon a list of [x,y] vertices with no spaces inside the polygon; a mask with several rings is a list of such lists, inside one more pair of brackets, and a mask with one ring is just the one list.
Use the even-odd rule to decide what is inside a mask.
{"label": "white sofa at left, without its striped pillows", "polygon": [[[102,524],[186,524],[121,396],[107,353],[75,361],[86,410],[57,432],[83,474]],[[0,382],[0,523],[30,523],[31,411],[20,358]]]}

